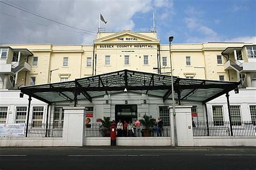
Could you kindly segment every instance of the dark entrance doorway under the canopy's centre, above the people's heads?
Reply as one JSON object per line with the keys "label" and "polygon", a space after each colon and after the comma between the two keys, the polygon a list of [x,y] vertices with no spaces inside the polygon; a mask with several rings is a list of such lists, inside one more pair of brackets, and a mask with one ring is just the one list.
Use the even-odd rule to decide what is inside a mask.
{"label": "dark entrance doorway under the canopy's centre, above the people's heads", "polygon": [[116,105],[115,106],[115,118],[116,122],[121,120],[122,122],[133,122],[137,118],[137,105]]}

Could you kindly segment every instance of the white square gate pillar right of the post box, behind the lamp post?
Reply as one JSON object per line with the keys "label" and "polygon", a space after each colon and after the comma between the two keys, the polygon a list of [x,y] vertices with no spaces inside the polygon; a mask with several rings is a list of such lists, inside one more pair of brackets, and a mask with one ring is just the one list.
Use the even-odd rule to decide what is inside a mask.
{"label": "white square gate pillar right of the post box, behind the lamp post", "polygon": [[[192,106],[176,106],[176,125],[178,146],[194,146],[192,127]],[[170,108],[172,145],[174,144],[173,110]]]}

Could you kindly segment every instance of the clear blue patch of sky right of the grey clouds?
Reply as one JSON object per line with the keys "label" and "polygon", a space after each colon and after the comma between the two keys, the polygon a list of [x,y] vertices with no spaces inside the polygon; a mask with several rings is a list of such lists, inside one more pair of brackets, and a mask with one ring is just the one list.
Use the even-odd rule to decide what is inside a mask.
{"label": "clear blue patch of sky right of the grey clouds", "polygon": [[133,30],[152,26],[154,12],[158,38],[164,44],[168,43],[169,35],[174,36],[173,43],[256,41],[255,0],[167,2],[171,4],[136,13]]}

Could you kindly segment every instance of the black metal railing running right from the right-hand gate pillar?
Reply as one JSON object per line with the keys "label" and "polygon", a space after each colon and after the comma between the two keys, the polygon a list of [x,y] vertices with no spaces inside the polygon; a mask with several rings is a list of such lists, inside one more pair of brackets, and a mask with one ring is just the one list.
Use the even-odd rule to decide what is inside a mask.
{"label": "black metal railing running right from the right-hand gate pillar", "polygon": [[198,121],[193,127],[194,137],[201,136],[230,136],[232,131],[234,136],[254,136],[256,135],[256,126],[253,121]]}

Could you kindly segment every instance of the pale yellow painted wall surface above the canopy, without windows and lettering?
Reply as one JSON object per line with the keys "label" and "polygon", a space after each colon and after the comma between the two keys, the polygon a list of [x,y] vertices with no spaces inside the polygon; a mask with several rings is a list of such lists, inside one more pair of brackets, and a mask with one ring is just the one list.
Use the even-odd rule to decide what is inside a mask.
{"label": "pale yellow painted wall surface above the canopy, without windows and lettering", "polygon": [[[123,34],[122,34],[123,33]],[[111,37],[112,36],[112,37]],[[118,40],[117,38],[124,38]],[[137,40],[125,40],[125,38],[137,38]],[[105,38],[105,39],[104,39]],[[153,32],[132,33],[124,31],[120,33],[101,33],[100,38],[94,41],[93,45],[51,45],[51,44],[21,44],[21,45],[5,45],[13,49],[28,49],[38,57],[38,66],[32,66],[32,70],[27,73],[26,85],[30,85],[30,77],[36,77],[36,84],[49,83],[50,70],[59,69],[52,72],[51,83],[59,82],[60,77],[68,77],[69,80],[82,78],[86,76],[113,72],[117,70],[135,70],[143,72],[157,73],[158,53],[161,58],[161,73],[169,72],[170,74],[170,51],[169,44],[158,45],[160,40],[156,39]],[[100,45],[113,45],[113,47],[100,47]],[[130,47],[118,47],[117,45],[131,45]],[[152,47],[136,47],[135,45],[151,45]],[[225,76],[225,80],[237,81],[236,72],[224,70],[226,58],[223,57],[223,64],[217,64],[217,55],[226,47],[244,46],[245,43],[203,43],[203,44],[173,44],[172,45],[172,62],[173,74],[179,77],[191,77],[196,79],[219,80],[220,75]],[[91,67],[86,66],[87,58],[92,58],[93,49],[97,60],[94,59]],[[9,53],[11,55],[11,53]],[[105,65],[105,56],[110,56],[110,65]],[[130,64],[124,64],[124,56],[130,56]],[[149,56],[149,64],[144,65],[144,55]],[[245,58],[246,51],[242,50]],[[29,57],[29,64],[32,65],[32,57]],[[191,57],[191,65],[186,66],[186,56]],[[69,65],[63,66],[63,57],[69,58]],[[163,57],[167,57],[167,66],[163,68]],[[231,56],[233,57],[233,56]],[[12,58],[12,55],[11,57]],[[22,56],[21,62],[26,60]],[[18,86],[24,84],[25,71],[19,72]]]}

